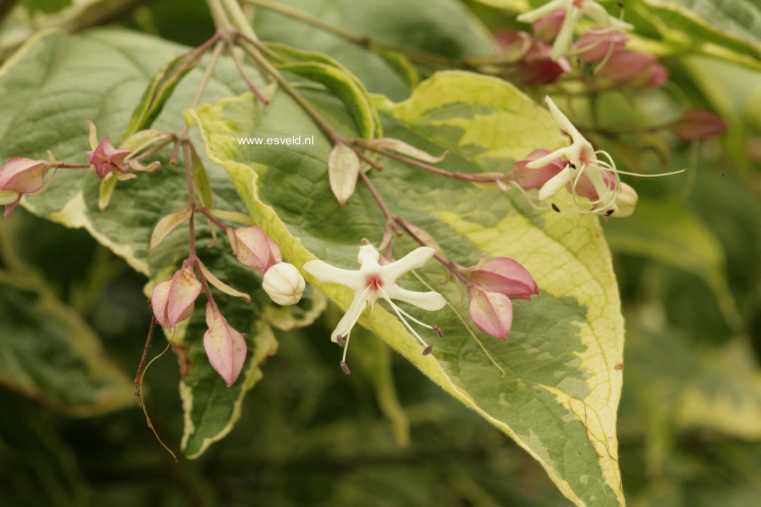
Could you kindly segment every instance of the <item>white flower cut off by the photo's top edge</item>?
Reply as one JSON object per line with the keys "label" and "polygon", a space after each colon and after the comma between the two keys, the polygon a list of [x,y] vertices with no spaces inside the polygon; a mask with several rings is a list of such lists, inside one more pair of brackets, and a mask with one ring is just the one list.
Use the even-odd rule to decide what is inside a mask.
{"label": "white flower cut off by the photo's top edge", "polygon": [[594,2],[594,0],[552,0],[540,8],[521,14],[517,17],[517,21],[536,23],[547,14],[558,10],[565,11],[565,18],[555,42],[552,43],[551,56],[553,60],[559,59],[571,49],[573,33],[582,16],[589,17],[601,27],[610,30],[634,30],[631,24],[611,16],[602,5]]}

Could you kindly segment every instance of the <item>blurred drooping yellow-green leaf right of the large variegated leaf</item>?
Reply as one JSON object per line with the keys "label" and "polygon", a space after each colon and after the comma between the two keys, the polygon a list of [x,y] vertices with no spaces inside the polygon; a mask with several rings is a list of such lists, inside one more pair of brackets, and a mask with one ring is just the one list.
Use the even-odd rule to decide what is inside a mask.
{"label": "blurred drooping yellow-green leaf right of the large variegated leaf", "polygon": [[610,220],[605,237],[614,252],[641,255],[701,277],[714,291],[727,322],[741,324],[727,284],[724,250],[708,226],[678,201],[640,199],[627,220]]}

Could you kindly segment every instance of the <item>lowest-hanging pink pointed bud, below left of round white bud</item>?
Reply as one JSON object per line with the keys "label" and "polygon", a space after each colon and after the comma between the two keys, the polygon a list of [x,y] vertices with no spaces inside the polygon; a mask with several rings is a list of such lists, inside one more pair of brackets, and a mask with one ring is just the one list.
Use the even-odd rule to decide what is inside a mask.
{"label": "lowest-hanging pink pointed bud, below left of round white bud", "polygon": [[217,306],[206,303],[206,325],[209,329],[203,334],[203,348],[209,363],[230,387],[240,375],[246,360],[246,339],[235,331]]}

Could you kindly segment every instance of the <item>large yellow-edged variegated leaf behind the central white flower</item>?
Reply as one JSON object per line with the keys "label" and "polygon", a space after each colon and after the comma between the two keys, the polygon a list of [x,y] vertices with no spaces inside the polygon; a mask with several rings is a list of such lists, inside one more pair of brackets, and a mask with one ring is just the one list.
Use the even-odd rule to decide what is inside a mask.
{"label": "large yellow-edged variegated leaf behind the central white flower", "polygon": [[[349,119],[329,98],[304,93],[333,121]],[[319,257],[356,268],[360,239],[377,243],[383,235],[383,215],[373,198],[359,187],[339,208],[327,178],[333,146],[285,93],[276,93],[260,116],[255,108],[244,96],[191,112],[209,157],[228,170],[252,216],[289,262],[301,266]],[[381,117],[389,137],[428,153],[452,152],[441,163],[444,169],[504,171],[511,158],[565,142],[549,113],[517,89],[465,72],[436,74],[409,101],[387,103],[385,109]],[[316,143],[294,147],[288,157],[277,147],[237,143],[243,132],[267,136],[296,128],[311,128]],[[460,322],[457,287],[438,285],[444,273],[430,263],[420,274],[451,306],[409,312],[444,330],[443,338],[426,338],[435,344],[433,353],[422,356],[419,344],[380,304],[359,323],[511,436],[540,461],[568,499],[577,505],[623,505],[615,429],[623,322],[597,218],[538,213],[521,196],[483,192],[393,160],[384,160],[384,171],[371,173],[371,179],[392,211],[428,230],[448,258],[463,264],[475,263],[481,252],[515,258],[537,280],[540,296],[516,303],[507,344],[476,331],[482,349]],[[393,255],[399,258],[414,246],[412,240],[398,239]],[[342,308],[349,305],[349,290],[316,285]],[[414,277],[403,285],[423,288]],[[329,337],[324,339],[327,344]],[[362,345],[352,341],[352,347]],[[336,368],[338,360],[336,353]]]}

